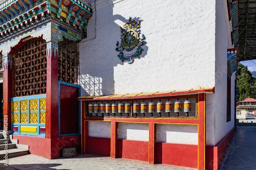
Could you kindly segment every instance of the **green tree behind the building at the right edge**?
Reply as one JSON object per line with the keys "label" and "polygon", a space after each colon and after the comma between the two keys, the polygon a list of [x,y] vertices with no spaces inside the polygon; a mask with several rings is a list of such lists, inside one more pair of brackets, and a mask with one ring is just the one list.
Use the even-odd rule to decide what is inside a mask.
{"label": "green tree behind the building at the right edge", "polygon": [[237,101],[242,101],[246,98],[255,98],[256,96],[256,81],[252,77],[251,72],[247,66],[238,64],[238,76],[237,87],[239,88],[239,94],[237,95]]}

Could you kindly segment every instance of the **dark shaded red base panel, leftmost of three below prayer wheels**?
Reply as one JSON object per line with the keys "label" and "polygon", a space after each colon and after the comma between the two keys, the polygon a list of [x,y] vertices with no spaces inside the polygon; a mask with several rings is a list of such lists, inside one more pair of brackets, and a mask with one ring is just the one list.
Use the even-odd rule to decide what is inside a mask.
{"label": "dark shaded red base panel, leftmost of three below prayer wheels", "polygon": [[88,137],[87,153],[102,156],[110,156],[110,143],[110,138]]}

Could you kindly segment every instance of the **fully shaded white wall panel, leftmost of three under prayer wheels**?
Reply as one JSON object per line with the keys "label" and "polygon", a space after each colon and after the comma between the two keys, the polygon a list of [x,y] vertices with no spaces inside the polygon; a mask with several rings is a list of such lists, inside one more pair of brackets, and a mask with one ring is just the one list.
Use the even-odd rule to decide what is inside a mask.
{"label": "fully shaded white wall panel, leftmost of three under prayer wheels", "polygon": [[89,121],[88,136],[111,138],[111,122],[110,121]]}

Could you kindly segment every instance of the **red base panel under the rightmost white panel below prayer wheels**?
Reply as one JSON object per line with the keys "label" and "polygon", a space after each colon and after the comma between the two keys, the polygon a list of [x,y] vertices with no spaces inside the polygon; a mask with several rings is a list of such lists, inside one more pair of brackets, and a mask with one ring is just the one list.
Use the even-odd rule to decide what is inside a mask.
{"label": "red base panel under the rightmost white panel below prayer wheels", "polygon": [[184,166],[198,167],[198,145],[156,143],[156,162]]}

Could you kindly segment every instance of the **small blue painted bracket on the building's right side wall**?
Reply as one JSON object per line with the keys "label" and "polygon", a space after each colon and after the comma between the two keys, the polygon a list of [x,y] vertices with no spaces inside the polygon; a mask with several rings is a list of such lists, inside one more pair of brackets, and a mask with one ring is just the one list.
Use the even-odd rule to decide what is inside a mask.
{"label": "small blue painted bracket on the building's right side wall", "polygon": [[238,48],[232,48],[227,50],[227,68],[228,78],[230,78],[233,72],[237,71],[238,68]]}

